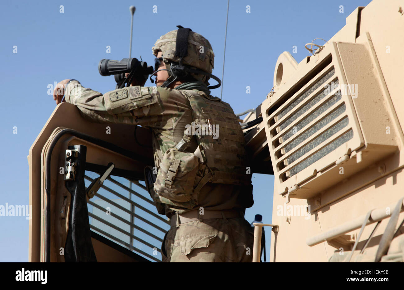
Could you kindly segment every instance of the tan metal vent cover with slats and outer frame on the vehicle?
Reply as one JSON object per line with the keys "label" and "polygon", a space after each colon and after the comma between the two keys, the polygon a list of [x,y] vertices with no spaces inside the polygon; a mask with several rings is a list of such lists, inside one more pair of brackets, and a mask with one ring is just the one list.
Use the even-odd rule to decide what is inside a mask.
{"label": "tan metal vent cover with slats and outer frame on the vehicle", "polygon": [[261,107],[279,194],[307,198],[341,181],[339,160],[365,145],[337,44],[321,54]]}

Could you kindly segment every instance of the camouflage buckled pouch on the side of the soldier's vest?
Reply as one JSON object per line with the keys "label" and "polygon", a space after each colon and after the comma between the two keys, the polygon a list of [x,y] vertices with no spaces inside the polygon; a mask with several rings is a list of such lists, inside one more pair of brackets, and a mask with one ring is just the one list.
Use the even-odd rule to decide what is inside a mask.
{"label": "camouflage buckled pouch on the side of the soldier's vest", "polygon": [[198,168],[199,158],[194,153],[168,149],[161,160],[154,191],[176,202],[191,200]]}

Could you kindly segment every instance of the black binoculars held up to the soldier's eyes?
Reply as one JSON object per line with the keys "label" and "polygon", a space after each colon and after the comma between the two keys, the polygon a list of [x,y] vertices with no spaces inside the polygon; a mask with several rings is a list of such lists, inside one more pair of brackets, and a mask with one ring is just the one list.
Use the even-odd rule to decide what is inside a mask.
{"label": "black binoculars held up to the soldier's eyes", "polygon": [[[149,74],[153,73],[152,66],[147,66],[145,61],[139,61],[132,57],[129,59],[122,59],[116,61],[113,59],[101,59],[98,64],[98,71],[101,76],[115,75],[115,81],[117,82],[117,88],[124,85],[126,82],[128,85],[133,78],[147,80]],[[128,78],[125,78],[125,74],[130,73]]]}

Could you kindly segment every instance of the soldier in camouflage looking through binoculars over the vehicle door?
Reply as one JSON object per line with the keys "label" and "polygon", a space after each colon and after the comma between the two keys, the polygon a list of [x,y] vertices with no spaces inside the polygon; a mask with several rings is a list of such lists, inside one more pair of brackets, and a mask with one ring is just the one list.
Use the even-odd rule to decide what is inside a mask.
{"label": "soldier in camouflage looking through binoculars over the vehicle door", "polygon": [[251,175],[238,118],[210,95],[209,78],[218,80],[211,74],[212,47],[181,27],[161,36],[152,50],[157,87],[134,81],[102,95],[63,80],[54,99],[60,103],[65,92],[65,101],[93,122],[152,130],[158,174],[146,185],[158,212],[171,219],[163,261],[250,262],[253,232],[244,212],[253,204]]}

